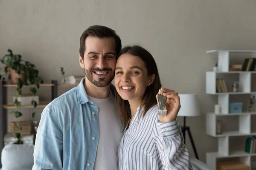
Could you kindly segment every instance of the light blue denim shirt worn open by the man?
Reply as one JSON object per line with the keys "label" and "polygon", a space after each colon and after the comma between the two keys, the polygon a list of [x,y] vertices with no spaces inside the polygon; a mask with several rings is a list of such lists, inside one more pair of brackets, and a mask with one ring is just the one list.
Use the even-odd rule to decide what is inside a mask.
{"label": "light blue denim shirt worn open by the man", "polygon": [[[88,99],[84,80],[44,108],[32,170],[93,170],[99,115],[97,105]],[[111,92],[116,93],[112,84]]]}

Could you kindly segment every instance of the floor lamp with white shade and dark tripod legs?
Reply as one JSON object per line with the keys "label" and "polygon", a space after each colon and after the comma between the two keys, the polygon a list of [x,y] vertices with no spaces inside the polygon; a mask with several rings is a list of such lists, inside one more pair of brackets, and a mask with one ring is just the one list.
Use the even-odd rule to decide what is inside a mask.
{"label": "floor lamp with white shade and dark tripod legs", "polygon": [[196,94],[179,94],[179,96],[180,96],[181,108],[180,108],[180,111],[179,111],[177,116],[183,116],[184,117],[184,125],[181,126],[182,133],[183,133],[183,136],[184,136],[184,143],[186,144],[185,136],[186,136],[186,131],[187,131],[188,134],[189,134],[190,142],[192,144],[192,147],[193,147],[193,150],[194,150],[194,153],[195,153],[195,157],[197,159],[199,159],[197,150],[195,148],[195,143],[194,143],[194,140],[192,138],[192,134],[190,132],[190,128],[189,128],[189,126],[186,126],[186,117],[188,117],[188,116],[200,116],[201,115],[200,108],[199,108],[199,105],[198,105],[197,95]]}

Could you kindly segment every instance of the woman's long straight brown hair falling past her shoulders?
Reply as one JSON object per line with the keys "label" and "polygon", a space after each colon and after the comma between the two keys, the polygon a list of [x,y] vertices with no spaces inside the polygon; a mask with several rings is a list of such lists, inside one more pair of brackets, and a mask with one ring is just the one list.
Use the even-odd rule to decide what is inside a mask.
{"label": "woman's long straight brown hair falling past her shoulders", "polygon": [[[153,56],[145,48],[141,47],[140,45],[124,47],[120,51],[117,59],[122,54],[131,54],[131,55],[140,57],[145,63],[145,68],[148,71],[148,76],[155,74],[154,82],[151,83],[151,85],[147,86],[145,93],[143,94],[142,103],[140,105],[140,111],[141,111],[141,108],[143,108],[143,112],[140,113],[139,111],[139,114],[143,114],[143,116],[145,116],[147,111],[157,104],[156,95],[162,86],[160,82],[158,70],[157,70],[157,64]],[[117,111],[119,112],[119,115],[123,124],[123,130],[125,130],[125,126],[129,122],[129,119],[131,117],[131,108],[128,100],[122,99],[122,97],[117,92],[116,92],[116,108],[117,108]]]}

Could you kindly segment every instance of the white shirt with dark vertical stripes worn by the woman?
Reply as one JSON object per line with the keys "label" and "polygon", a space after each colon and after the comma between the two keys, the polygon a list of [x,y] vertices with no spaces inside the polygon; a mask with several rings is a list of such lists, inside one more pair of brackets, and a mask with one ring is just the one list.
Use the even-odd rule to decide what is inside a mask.
{"label": "white shirt with dark vertical stripes worn by the woman", "polygon": [[192,170],[177,119],[160,123],[157,105],[138,119],[139,108],[118,146],[119,170]]}

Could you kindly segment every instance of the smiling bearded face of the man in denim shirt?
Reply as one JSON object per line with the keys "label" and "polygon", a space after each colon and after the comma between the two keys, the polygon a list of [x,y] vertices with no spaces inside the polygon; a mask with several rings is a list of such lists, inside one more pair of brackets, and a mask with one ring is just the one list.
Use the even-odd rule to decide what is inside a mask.
{"label": "smiling bearded face of the man in denim shirt", "polygon": [[86,78],[97,87],[111,83],[115,75],[116,44],[113,37],[88,36],[85,40],[84,59],[79,57]]}

